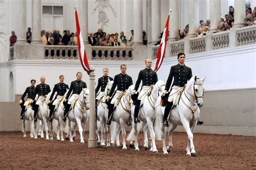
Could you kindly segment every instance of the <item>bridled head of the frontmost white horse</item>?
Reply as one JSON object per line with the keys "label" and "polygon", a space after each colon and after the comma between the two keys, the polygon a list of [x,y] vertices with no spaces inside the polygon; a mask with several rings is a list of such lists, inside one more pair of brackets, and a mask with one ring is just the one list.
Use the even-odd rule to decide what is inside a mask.
{"label": "bridled head of the frontmost white horse", "polygon": [[204,102],[203,102],[203,97],[204,97],[204,81],[205,77],[200,79],[198,76],[193,76],[192,81],[190,80],[188,83],[191,83],[191,93],[194,96],[194,99],[196,100],[196,103],[199,107],[202,107]]}

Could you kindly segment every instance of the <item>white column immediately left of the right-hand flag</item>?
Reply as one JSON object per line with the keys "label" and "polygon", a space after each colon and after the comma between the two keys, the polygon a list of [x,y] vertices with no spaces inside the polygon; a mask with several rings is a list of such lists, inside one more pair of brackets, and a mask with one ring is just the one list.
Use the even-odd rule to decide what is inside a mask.
{"label": "white column immediately left of the right-hand flag", "polygon": [[160,1],[151,1],[151,44],[156,44],[159,41],[161,33],[160,24]]}

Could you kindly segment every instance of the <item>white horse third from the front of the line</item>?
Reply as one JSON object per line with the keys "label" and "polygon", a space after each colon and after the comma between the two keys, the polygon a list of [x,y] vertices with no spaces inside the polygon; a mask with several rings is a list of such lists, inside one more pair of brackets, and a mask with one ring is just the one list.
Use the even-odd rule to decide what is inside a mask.
{"label": "white horse third from the front of the line", "polygon": [[[116,109],[114,109],[113,117],[112,117],[112,119],[116,122],[116,123],[113,122],[113,129],[116,130],[116,133],[111,132],[112,133],[111,145],[114,144],[114,139],[116,139],[117,146],[118,147],[120,146],[119,132],[120,132],[120,129],[122,129],[123,150],[127,149],[126,143],[125,143],[125,136],[126,136],[125,124],[130,123],[131,121],[130,95],[133,89],[134,89],[134,85],[131,85],[126,90],[126,92],[124,92],[125,94],[120,98],[119,104],[117,105]],[[106,116],[107,116],[107,113],[106,113]],[[113,129],[111,129],[111,131],[113,131]]]}

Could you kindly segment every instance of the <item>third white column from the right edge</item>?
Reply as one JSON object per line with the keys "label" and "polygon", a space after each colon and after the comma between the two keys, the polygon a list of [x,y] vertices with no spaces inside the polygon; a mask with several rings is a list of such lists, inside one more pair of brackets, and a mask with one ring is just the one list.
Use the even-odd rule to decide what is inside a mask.
{"label": "third white column from the right edge", "polygon": [[198,16],[199,16],[199,9],[198,9],[198,0],[190,0],[188,1],[188,4],[189,4],[189,15],[188,17],[190,18],[189,20],[189,31],[188,31],[188,35],[187,37],[188,38],[191,38],[191,37],[195,37],[196,36],[196,29],[198,28],[198,25],[199,25],[199,19],[198,19]]}

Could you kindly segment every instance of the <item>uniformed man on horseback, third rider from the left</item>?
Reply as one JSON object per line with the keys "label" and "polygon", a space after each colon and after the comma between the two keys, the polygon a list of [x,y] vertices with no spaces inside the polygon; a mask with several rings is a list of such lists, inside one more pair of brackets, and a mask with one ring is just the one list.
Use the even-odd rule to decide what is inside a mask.
{"label": "uniformed man on horseback, third rider from the left", "polygon": [[47,104],[50,104],[52,102],[52,98],[55,94],[55,91],[57,91],[57,95],[55,97],[55,100],[52,103],[51,110],[50,110],[50,116],[49,116],[49,122],[52,122],[52,114],[55,110],[55,105],[63,99],[64,94],[66,93],[66,90],[69,89],[68,84],[64,83],[64,75],[59,76],[59,83],[55,84],[52,90],[51,97],[49,98],[49,101],[47,101]]}

